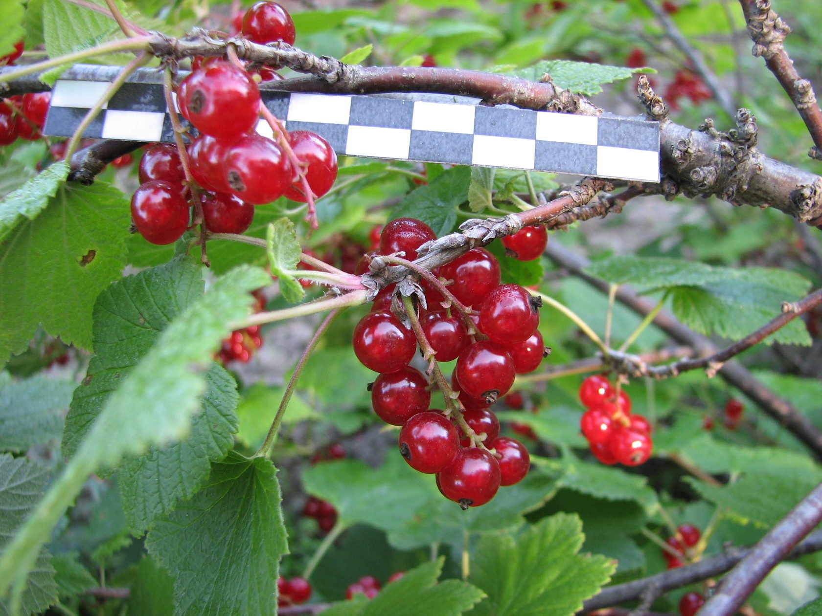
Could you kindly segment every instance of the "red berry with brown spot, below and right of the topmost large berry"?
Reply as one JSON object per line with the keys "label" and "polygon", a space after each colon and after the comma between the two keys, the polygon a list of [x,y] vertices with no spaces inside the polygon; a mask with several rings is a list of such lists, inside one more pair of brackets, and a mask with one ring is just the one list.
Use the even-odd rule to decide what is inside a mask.
{"label": "red berry with brown spot, below and right of the topmost large berry", "polygon": [[234,195],[246,203],[261,205],[283,195],[291,184],[293,169],[274,141],[248,135],[229,148],[224,177]]}

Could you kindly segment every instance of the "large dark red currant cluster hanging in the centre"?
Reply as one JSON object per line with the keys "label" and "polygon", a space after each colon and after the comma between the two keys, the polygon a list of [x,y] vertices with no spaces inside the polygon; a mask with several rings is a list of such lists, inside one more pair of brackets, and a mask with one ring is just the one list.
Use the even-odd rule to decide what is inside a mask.
{"label": "large dark red currant cluster hanging in the centre", "polygon": [[[402,251],[406,259],[415,260],[418,247],[434,238],[425,223],[398,218],[382,229],[379,254]],[[478,306],[463,319],[449,308],[441,309],[456,310],[434,285],[424,278],[421,282],[427,306],[419,307],[421,333],[437,361],[457,361],[451,387],[459,393],[461,408],[451,413],[429,410],[430,384],[409,367],[418,340],[391,313],[392,290],[383,289],[372,311],[357,324],[353,349],[363,365],[380,373],[369,386],[372,405],[383,421],[402,426],[399,451],[409,466],[436,473],[446,498],[463,508],[477,507],[529,470],[528,450],[515,439],[498,438],[500,424],[488,407],[508,392],[517,373],[536,370],[543,360],[545,347],[537,331],[540,302],[523,287],[500,284],[499,263],[482,248],[434,274],[456,301]]]}

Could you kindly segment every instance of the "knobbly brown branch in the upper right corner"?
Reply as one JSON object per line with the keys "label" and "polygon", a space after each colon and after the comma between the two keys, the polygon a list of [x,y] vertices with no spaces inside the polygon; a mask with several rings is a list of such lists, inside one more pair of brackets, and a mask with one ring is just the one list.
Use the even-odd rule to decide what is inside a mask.
{"label": "knobbly brown branch in the upper right corner", "polygon": [[814,147],[808,155],[822,160],[822,110],[816,104],[810,81],[799,76],[783,46],[785,37],[791,32],[790,26],[771,10],[769,0],[739,0],[739,3],[745,14],[748,35],[754,41],[751,53],[755,57],[764,57],[765,65],[774,73],[779,85],[797,108],[802,122],[805,122],[814,140]]}

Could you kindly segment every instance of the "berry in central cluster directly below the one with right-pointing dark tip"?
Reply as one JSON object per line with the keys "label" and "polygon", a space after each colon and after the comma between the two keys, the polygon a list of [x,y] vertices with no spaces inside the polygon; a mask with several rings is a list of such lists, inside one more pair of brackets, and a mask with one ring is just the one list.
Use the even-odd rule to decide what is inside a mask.
{"label": "berry in central cluster directly below the one with right-pointing dark tip", "polygon": [[489,404],[514,384],[514,361],[506,350],[487,340],[474,342],[457,359],[459,387],[472,398]]}

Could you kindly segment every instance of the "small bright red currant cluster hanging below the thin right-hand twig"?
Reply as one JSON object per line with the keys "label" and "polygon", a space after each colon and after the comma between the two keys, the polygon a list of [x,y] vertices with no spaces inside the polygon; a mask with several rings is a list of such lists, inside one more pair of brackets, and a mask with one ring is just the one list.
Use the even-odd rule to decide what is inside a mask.
{"label": "small bright red currant cluster hanging below the thin right-hand twig", "polygon": [[651,425],[643,416],[631,414],[624,390],[617,395],[606,377],[593,375],[583,380],[580,401],[588,409],[580,429],[599,462],[635,467],[648,460],[653,447]]}

